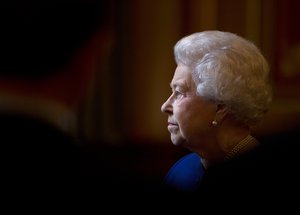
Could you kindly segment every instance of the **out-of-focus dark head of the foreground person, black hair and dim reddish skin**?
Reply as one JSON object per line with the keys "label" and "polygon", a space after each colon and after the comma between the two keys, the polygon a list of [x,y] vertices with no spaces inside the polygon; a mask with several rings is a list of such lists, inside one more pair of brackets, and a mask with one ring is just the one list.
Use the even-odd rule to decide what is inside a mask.
{"label": "out-of-focus dark head of the foreground person, black hair and dim reddish skin", "polygon": [[0,91],[78,103],[107,53],[111,0],[2,4]]}

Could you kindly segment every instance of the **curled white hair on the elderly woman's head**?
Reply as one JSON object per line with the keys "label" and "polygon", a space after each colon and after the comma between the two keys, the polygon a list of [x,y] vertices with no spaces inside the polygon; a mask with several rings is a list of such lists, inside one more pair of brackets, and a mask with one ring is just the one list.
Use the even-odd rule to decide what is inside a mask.
{"label": "curled white hair on the elderly woman's head", "polygon": [[250,41],[229,32],[204,31],[174,46],[177,65],[188,66],[201,97],[225,104],[246,125],[261,120],[272,100],[269,65]]}

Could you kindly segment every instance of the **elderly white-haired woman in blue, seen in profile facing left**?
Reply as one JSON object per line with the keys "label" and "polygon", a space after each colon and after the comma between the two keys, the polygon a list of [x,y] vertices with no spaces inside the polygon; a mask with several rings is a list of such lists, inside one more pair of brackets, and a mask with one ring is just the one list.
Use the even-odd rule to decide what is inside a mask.
{"label": "elderly white-haired woman in blue, seen in profile facing left", "polygon": [[204,31],[182,38],[174,53],[172,94],[161,110],[172,143],[192,153],[169,170],[165,183],[210,194],[271,189],[285,164],[275,144],[262,144],[251,132],[272,100],[259,49],[233,33]]}

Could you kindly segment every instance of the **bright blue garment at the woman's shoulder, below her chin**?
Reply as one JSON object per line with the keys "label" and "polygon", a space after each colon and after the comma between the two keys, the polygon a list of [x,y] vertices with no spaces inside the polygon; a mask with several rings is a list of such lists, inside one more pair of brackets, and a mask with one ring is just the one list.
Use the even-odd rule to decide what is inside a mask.
{"label": "bright blue garment at the woman's shoulder, below her chin", "polygon": [[204,167],[200,156],[196,153],[190,153],[170,168],[164,182],[172,189],[190,192],[198,188],[203,174]]}

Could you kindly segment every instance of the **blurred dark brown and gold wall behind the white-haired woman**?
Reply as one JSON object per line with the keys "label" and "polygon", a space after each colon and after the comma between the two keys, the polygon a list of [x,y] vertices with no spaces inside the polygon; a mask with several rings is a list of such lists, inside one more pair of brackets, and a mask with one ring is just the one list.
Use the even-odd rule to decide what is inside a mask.
{"label": "blurred dark brown and gold wall behind the white-haired woman", "polygon": [[119,144],[116,163],[163,177],[187,152],[172,145],[160,111],[171,93],[173,46],[185,35],[215,29],[252,40],[270,63],[274,102],[255,134],[298,130],[299,9],[298,0],[115,0],[109,61],[99,67],[80,109],[78,135],[95,145],[103,139]]}

